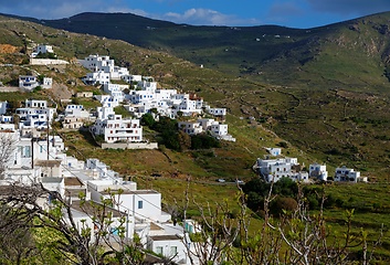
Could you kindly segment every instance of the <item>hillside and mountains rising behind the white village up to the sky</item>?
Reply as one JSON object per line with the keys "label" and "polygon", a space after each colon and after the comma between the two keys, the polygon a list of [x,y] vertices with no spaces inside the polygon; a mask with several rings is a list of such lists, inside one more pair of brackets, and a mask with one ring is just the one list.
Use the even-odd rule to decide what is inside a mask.
{"label": "hillside and mountains rising behind the white village up to the sky", "polygon": [[[230,131],[239,139],[235,146],[254,147],[242,161],[247,176],[263,148],[283,138],[308,153],[307,162],[348,165],[382,178],[390,159],[389,17],[296,30],[191,26],[134,14],[83,13],[35,20],[41,25],[3,22],[1,30],[2,42],[21,50],[32,39],[53,44],[70,60],[108,54],[134,74],[152,75],[165,86],[197,92],[228,107]],[[197,67],[200,64],[204,68]],[[251,116],[255,123],[247,123]],[[259,141],[267,130],[281,138]]]}

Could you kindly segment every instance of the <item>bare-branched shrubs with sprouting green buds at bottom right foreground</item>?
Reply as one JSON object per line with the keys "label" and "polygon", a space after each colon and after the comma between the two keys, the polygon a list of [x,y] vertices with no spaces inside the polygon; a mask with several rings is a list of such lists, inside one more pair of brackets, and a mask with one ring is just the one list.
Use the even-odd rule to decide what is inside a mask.
{"label": "bare-branched shrubs with sprouting green buds at bottom right foreground", "polygon": [[[323,206],[317,214],[309,213],[301,186],[297,186],[295,199],[281,200],[281,197],[274,193],[275,184],[271,183],[267,194],[264,195],[263,222],[256,232],[250,230],[253,212],[246,208],[246,195],[243,191],[236,197],[240,206],[236,214],[231,214],[230,205],[223,200],[215,202],[213,206],[208,204],[207,208],[194,202],[201,213],[199,225],[202,230],[190,236],[192,248],[188,246],[187,251],[191,263],[344,265],[360,261],[367,265],[372,261],[381,239],[369,247],[365,232],[352,233],[354,211],[346,213],[345,230],[340,236],[326,224]],[[187,191],[185,218],[190,202],[188,194]],[[326,201],[324,194],[320,205]],[[273,216],[270,206],[275,202],[281,203],[277,200],[281,200],[282,204],[287,204],[288,209]],[[183,241],[188,245],[186,236]],[[361,247],[360,259],[351,255],[357,247]]]}

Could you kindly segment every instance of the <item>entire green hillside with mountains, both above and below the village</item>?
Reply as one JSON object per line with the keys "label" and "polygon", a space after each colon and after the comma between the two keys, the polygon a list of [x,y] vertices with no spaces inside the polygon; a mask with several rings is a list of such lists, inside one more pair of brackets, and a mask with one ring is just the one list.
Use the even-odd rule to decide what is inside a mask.
{"label": "entire green hillside with mountains, both above and below the village", "polygon": [[[80,82],[86,70],[76,59],[98,53],[112,56],[133,74],[155,76],[164,87],[196,92],[212,106],[229,109],[226,123],[236,142],[181,152],[166,148],[102,150],[87,132],[60,134],[70,155],[101,159],[125,178],[131,177],[139,188],[160,191],[165,205],[183,197],[188,178],[193,180],[191,199],[204,204],[224,198],[233,201],[235,186],[214,180],[249,181],[255,177],[255,159],[266,155],[265,147],[283,144],[284,155],[298,157],[306,166],[326,162],[330,176],[335,167],[352,167],[380,183],[323,187],[336,203],[326,210],[326,221],[331,230],[344,231],[345,210],[355,209],[352,232],[365,229],[369,244],[378,241],[383,223],[383,244],[375,262],[388,264],[389,15],[310,30],[177,25],[129,14],[85,13],[44,23],[0,17],[0,64],[13,65],[0,66],[0,81],[12,85],[19,74],[38,71],[68,91],[97,93],[96,87]],[[71,32],[81,29],[88,34]],[[110,40],[122,36],[131,40]],[[63,68],[25,65],[34,43],[53,45],[59,57],[71,64]],[[54,92],[38,92],[0,93],[0,100],[15,104],[48,96],[60,99]],[[87,99],[78,103],[96,105]],[[146,138],[156,137],[150,129],[145,132]],[[150,178],[155,172],[162,178]],[[253,225],[259,222],[254,220]]]}

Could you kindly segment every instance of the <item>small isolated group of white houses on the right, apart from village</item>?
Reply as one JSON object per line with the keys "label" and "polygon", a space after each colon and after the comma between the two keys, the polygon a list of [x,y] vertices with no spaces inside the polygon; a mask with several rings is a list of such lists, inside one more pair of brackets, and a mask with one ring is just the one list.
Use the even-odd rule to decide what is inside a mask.
{"label": "small isolated group of white houses on the right, apart from village", "polygon": [[[277,157],[282,155],[281,148],[266,148],[271,156]],[[274,159],[257,158],[255,167],[257,172],[266,182],[276,182],[282,178],[289,178],[294,181],[310,182],[310,181],[327,181],[333,179],[340,182],[358,182],[367,181],[367,178],[360,177],[359,171],[346,168],[336,168],[334,178],[328,177],[326,165],[313,163],[307,171],[302,171],[302,166],[297,158],[278,157]]]}

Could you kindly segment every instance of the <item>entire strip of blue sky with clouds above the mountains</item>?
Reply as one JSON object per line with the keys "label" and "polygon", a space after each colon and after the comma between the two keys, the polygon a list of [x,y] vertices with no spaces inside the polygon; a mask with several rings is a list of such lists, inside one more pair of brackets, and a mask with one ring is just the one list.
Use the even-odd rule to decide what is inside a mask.
{"label": "entire strip of blue sky with clouds above the mountains", "polygon": [[130,12],[196,25],[314,28],[390,11],[390,0],[0,0],[0,12],[61,19],[81,12]]}

